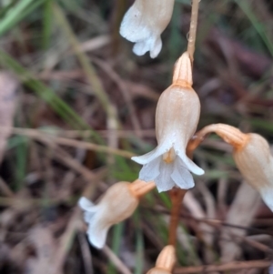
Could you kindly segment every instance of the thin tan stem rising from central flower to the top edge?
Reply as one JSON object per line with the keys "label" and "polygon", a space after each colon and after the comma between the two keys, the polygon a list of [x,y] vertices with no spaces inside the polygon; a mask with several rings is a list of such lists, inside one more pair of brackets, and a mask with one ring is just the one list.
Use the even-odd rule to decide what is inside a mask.
{"label": "thin tan stem rising from central flower to the top edge", "polygon": [[192,0],[190,26],[187,39],[187,52],[191,62],[194,60],[194,52],[196,48],[196,37],[197,37],[197,19],[198,19],[198,8],[199,0]]}

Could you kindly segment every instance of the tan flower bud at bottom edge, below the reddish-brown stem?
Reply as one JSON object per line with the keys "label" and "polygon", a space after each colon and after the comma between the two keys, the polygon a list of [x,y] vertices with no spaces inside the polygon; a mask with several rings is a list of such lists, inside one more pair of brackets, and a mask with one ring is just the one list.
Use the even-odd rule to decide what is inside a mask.
{"label": "tan flower bud at bottom edge, below the reddish-brown stem", "polygon": [[147,274],[171,274],[176,263],[176,249],[174,246],[167,246],[161,250],[157,257],[156,267],[150,269]]}

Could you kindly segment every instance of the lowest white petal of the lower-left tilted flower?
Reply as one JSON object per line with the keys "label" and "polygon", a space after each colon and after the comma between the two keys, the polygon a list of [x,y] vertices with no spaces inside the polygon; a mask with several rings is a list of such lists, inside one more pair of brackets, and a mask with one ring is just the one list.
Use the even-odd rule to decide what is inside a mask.
{"label": "lowest white petal of the lower-left tilted flower", "polygon": [[105,246],[109,229],[109,227],[102,228],[99,224],[100,219],[95,217],[86,231],[90,244],[96,247],[96,249],[102,249]]}

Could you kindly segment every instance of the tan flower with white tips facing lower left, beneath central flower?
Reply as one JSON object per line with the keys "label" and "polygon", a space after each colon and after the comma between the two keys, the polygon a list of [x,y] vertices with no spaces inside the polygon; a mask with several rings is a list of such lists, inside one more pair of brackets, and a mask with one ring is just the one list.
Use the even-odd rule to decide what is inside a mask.
{"label": "tan flower with white tips facing lower left, beneath central flower", "polygon": [[86,232],[89,242],[97,249],[102,249],[106,243],[108,229],[130,217],[138,205],[139,198],[153,188],[153,182],[119,182],[107,189],[97,205],[85,197],[80,198],[78,205],[85,210],[85,221],[89,225]]}

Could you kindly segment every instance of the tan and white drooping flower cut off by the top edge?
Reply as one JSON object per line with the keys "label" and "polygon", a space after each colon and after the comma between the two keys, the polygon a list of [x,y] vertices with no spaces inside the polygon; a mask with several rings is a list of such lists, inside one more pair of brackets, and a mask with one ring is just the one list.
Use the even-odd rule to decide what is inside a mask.
{"label": "tan and white drooping flower cut off by the top edge", "polygon": [[151,58],[158,56],[161,47],[161,33],[169,23],[174,0],[136,0],[120,25],[120,35],[136,43],[133,48],[136,56],[150,51]]}

